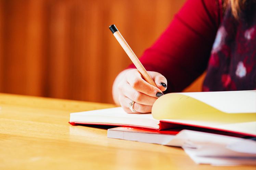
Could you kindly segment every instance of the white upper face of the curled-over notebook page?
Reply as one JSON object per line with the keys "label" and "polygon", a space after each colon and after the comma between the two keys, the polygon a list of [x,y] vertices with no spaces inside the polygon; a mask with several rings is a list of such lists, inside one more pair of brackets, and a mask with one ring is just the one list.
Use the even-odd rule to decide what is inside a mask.
{"label": "white upper face of the curled-over notebook page", "polygon": [[222,112],[256,113],[256,90],[180,93],[193,97]]}

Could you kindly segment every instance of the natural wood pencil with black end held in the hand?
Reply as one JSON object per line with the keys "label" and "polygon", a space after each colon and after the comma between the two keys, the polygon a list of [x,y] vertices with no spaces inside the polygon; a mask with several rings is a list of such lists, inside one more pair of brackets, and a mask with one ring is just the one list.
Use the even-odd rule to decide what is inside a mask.
{"label": "natural wood pencil with black end held in the hand", "polygon": [[116,26],[113,24],[109,27],[113,35],[115,36],[118,43],[123,47],[128,57],[131,59],[132,63],[136,66],[144,80],[146,82],[150,83],[152,86],[156,86],[156,83],[154,80],[150,77],[144,66],[141,64],[138,57],[135,55],[135,53],[132,51],[131,47],[128,45],[128,43],[125,41],[125,38],[121,35],[121,33],[117,30]]}

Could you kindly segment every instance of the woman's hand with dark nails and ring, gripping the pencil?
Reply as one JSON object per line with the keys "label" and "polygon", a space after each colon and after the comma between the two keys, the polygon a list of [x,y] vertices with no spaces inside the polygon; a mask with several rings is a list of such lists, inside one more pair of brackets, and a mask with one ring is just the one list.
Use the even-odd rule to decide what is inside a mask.
{"label": "woman's hand with dark nails and ring, gripping the pencil", "polygon": [[[156,99],[163,95],[162,91],[166,90],[167,80],[162,74],[157,72],[148,73],[155,81],[158,88],[146,82],[137,69],[126,70],[121,76],[123,78],[117,77],[117,79],[119,79],[118,83],[116,82],[118,80],[115,80],[113,85],[113,95],[118,94],[118,101],[127,113],[133,113],[129,109],[131,101],[135,102],[133,109],[136,113],[151,112],[152,105]],[[114,90],[116,91],[116,89],[114,89],[115,84],[117,84],[118,93],[114,92]]]}

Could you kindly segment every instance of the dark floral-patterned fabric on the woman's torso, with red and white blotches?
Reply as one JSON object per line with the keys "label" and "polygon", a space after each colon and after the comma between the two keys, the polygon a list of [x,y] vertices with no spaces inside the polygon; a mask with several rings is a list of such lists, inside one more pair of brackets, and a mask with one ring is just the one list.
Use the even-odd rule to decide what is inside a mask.
{"label": "dark floral-patterned fabric on the woman's torso, with red and white blotches", "polygon": [[256,89],[256,13],[239,20],[227,10],[217,31],[203,91]]}

